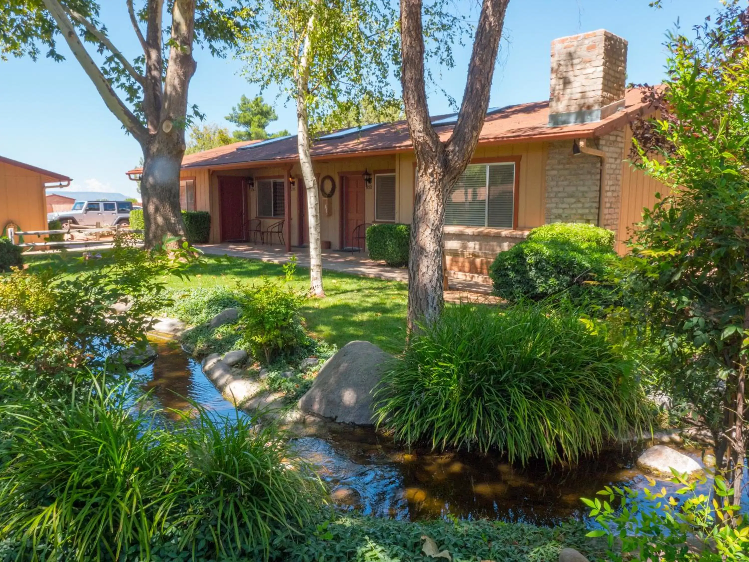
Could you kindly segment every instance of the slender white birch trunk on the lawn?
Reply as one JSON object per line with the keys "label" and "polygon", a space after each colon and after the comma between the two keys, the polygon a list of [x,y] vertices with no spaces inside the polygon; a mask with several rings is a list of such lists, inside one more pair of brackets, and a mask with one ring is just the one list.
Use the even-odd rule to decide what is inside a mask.
{"label": "slender white birch trunk on the lawn", "polygon": [[[319,0],[315,0],[318,3]],[[320,235],[320,202],[318,198],[318,180],[312,167],[312,153],[309,141],[309,119],[307,114],[307,96],[309,94],[309,53],[312,49],[312,32],[315,31],[315,16],[309,18],[304,46],[297,69],[297,149],[302,177],[307,191],[307,217],[309,223],[309,294],[324,297],[323,289],[323,253]]]}

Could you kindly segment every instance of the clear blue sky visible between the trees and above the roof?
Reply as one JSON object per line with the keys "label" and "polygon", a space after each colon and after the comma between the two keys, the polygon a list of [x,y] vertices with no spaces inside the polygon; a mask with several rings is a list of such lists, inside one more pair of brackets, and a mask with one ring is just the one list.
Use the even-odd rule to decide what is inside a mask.
{"label": "clear blue sky visible between the trees and above the roof", "polygon": [[[456,0],[458,6],[475,0]],[[103,21],[115,44],[136,53],[124,0],[105,1]],[[121,5],[120,5],[121,4]],[[719,7],[718,0],[665,0],[664,9],[649,0],[512,0],[505,23],[500,61],[494,73],[490,106],[544,100],[548,97],[549,45],[556,37],[606,28],[629,41],[628,79],[658,82],[663,75],[664,32],[677,19],[682,28],[702,22]],[[124,175],[138,163],[138,143],[124,134],[98,97],[79,64],[42,58],[0,62],[0,155],[70,175],[76,190],[135,194]],[[455,70],[443,73],[446,91],[460,100],[470,45],[457,53]],[[198,70],[190,85],[190,103],[197,103],[206,122],[224,121],[241,94],[258,94],[239,76],[240,63],[196,52]],[[266,100],[273,102],[273,94]],[[296,130],[294,109],[276,102],[279,121],[269,130]],[[446,99],[432,94],[433,114],[449,112]]]}

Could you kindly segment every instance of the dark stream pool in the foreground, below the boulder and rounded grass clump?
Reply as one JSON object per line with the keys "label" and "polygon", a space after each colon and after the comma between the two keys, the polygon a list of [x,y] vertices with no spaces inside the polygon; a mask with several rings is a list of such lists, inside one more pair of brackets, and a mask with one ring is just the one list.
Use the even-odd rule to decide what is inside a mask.
{"label": "dark stream pool in the foreground, below the boulder and rounded grass clump", "polygon": [[576,468],[509,465],[500,456],[404,450],[372,430],[324,426],[296,440],[331,486],[354,489],[364,513],[407,519],[451,514],[554,525],[583,517],[580,496],[610,483],[646,486],[631,467],[639,451],[605,453]]}

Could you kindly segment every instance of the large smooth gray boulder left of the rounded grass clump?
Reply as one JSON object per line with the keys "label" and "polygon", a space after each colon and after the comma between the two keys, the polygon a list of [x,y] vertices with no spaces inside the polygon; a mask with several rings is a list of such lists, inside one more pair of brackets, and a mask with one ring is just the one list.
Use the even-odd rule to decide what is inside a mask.
{"label": "large smooth gray boulder left of the rounded grass clump", "polygon": [[321,366],[312,388],[299,400],[300,410],[339,423],[374,423],[372,390],[392,360],[377,345],[349,342]]}

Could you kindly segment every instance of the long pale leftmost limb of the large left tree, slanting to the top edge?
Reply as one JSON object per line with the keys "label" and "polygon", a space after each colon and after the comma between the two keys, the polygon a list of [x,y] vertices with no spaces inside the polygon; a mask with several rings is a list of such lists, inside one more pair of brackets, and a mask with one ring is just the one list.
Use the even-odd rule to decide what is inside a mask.
{"label": "long pale leftmost limb of the large left tree, slanting to the top edge", "polygon": [[114,88],[112,88],[112,85],[104,77],[99,67],[97,67],[97,64],[91,58],[91,55],[88,54],[88,51],[85,49],[85,46],[83,46],[83,43],[81,43],[78,34],[76,34],[76,28],[73,27],[73,23],[70,22],[70,19],[67,18],[67,14],[60,5],[60,2],[58,0],[43,0],[43,2],[46,9],[49,10],[49,13],[51,13],[52,17],[55,19],[55,22],[57,23],[62,36],[65,38],[67,45],[70,46],[73,55],[83,67],[84,72],[88,74],[91,82],[94,82],[94,86],[99,92],[101,99],[104,100],[107,108],[109,108],[109,111],[111,111],[115,117],[121,121],[130,134],[132,134],[139,142],[144,142],[148,135],[145,127],[143,127],[138,118],[133,115],[133,112],[131,112],[118,97]]}

